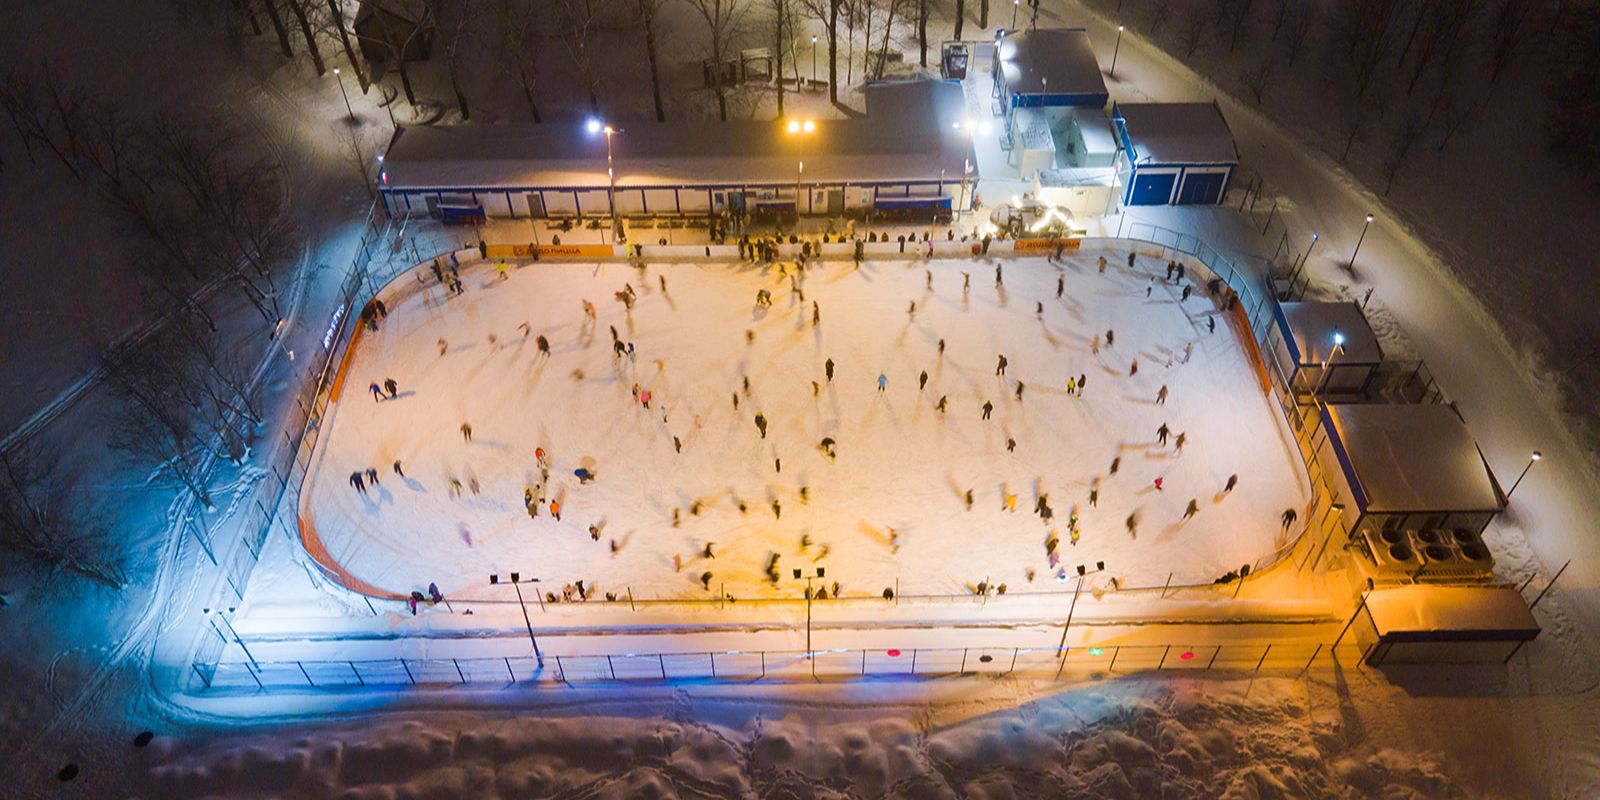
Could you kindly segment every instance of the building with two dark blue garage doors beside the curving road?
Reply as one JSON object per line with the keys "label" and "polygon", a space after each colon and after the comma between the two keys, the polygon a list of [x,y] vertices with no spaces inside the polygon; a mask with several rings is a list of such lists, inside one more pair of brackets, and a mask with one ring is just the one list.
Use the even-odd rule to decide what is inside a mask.
{"label": "building with two dark blue garage doors beside the curving road", "polygon": [[1115,102],[1123,205],[1218,205],[1238,170],[1216,102]]}

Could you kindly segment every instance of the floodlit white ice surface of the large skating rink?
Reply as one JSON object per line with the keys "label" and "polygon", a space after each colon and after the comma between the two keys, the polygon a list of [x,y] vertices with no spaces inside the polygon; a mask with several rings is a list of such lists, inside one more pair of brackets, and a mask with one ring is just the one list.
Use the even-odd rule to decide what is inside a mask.
{"label": "floodlit white ice surface of the large skating rink", "polygon": [[[490,573],[514,570],[557,592],[581,579],[638,598],[714,597],[718,586],[790,597],[790,570],[818,565],[827,586],[872,595],[896,579],[902,594],[979,581],[1054,589],[1058,570],[1098,560],[1130,586],[1160,586],[1170,573],[1174,584],[1211,581],[1283,541],[1282,512],[1309,501],[1304,467],[1240,333],[1202,286],[1179,302],[1179,288],[1162,282],[1165,261],[1141,258],[1130,270],[1126,251],[1106,251],[1110,267],[1099,274],[1099,254],[1072,253],[1059,267],[1043,258],[813,264],[798,280],[803,301],[778,266],[741,262],[514,264],[504,280],[477,264],[461,272],[466,293],[448,299],[430,277],[424,286],[403,275],[413,288],[358,339],[325,422],[302,533],[349,586],[400,595],[430,581],[446,595],[477,594]],[[995,264],[1005,267],[998,288]],[[614,298],[624,285],[637,291],[630,314]],[[770,309],[755,302],[763,288]],[[587,325],[584,299],[598,312]],[[610,326],[634,344],[632,362],[613,355]],[[1002,354],[1008,368],[997,376]],[[1072,397],[1067,379],[1078,374],[1088,386]],[[368,386],[386,378],[398,397],[374,402]],[[634,400],[635,384],[653,395],[650,410]],[[1170,394],[1158,405],[1162,386]],[[1166,446],[1157,443],[1163,422]],[[824,437],[837,442],[837,461],[821,451]],[[541,446],[550,472],[531,518],[523,490],[539,482]],[[362,494],[349,477],[366,467],[381,483]],[[581,485],[579,467],[597,478]],[[1224,494],[1232,474],[1238,486]],[[1035,514],[1040,493],[1050,523]],[[1184,522],[1190,499],[1198,514]],[[1053,533],[1058,566],[1045,547]],[[707,542],[715,558],[704,557]],[[781,587],[766,579],[773,555]]]}

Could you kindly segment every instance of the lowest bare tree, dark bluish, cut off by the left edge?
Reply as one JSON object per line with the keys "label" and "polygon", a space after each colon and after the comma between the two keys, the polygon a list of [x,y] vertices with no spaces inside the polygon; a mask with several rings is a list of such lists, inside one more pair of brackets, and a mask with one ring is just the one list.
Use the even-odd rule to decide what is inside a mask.
{"label": "lowest bare tree, dark bluish, cut off by the left edge", "polygon": [[42,446],[0,450],[0,550],[122,589],[122,547],[86,496]]}

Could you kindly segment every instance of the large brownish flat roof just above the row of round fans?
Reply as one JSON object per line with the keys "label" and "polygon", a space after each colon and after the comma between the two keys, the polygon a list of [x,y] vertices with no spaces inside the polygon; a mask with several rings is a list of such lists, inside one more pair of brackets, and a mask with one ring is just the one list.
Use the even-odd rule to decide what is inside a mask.
{"label": "large brownish flat roof just above the row of round fans", "polygon": [[1363,512],[1502,509],[1483,453],[1450,406],[1342,403],[1323,414]]}

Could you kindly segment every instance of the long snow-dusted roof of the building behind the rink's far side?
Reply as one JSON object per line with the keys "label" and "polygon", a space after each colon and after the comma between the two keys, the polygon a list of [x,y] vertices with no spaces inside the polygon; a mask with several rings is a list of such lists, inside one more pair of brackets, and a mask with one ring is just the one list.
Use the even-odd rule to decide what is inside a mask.
{"label": "long snow-dusted roof of the building behind the rink's far side", "polygon": [[[618,187],[960,181],[971,139],[958,83],[867,86],[864,118],[816,120],[811,134],[782,122],[637,122],[613,138]],[[582,123],[400,128],[384,155],[384,189],[605,187],[605,136]]]}

